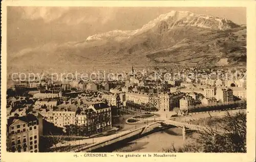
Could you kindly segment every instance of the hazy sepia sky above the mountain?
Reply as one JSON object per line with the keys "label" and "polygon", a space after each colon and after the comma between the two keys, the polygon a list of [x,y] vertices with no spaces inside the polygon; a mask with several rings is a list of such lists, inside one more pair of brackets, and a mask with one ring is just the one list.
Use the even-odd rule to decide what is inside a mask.
{"label": "hazy sepia sky above the mountain", "polygon": [[45,44],[84,41],[96,33],[139,29],[172,10],[246,24],[246,8],[237,7],[8,7],[8,56]]}

